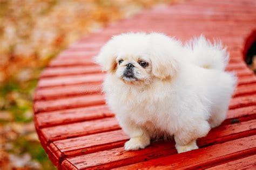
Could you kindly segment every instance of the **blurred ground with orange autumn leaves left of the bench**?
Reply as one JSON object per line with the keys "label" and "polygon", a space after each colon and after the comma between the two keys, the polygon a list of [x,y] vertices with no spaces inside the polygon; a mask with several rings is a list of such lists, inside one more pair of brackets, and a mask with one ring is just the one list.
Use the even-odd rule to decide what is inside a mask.
{"label": "blurred ground with orange autumn leaves left of the bench", "polygon": [[107,23],[174,0],[0,0],[0,169],[55,169],[32,122],[47,63]]}

